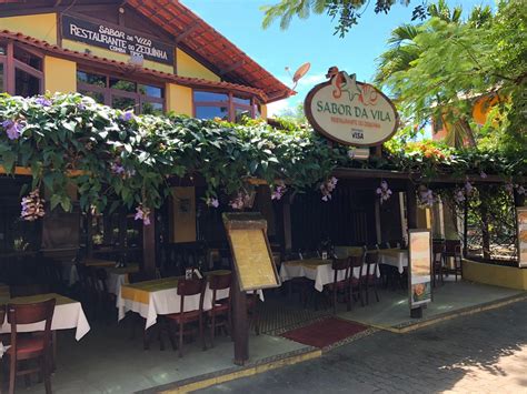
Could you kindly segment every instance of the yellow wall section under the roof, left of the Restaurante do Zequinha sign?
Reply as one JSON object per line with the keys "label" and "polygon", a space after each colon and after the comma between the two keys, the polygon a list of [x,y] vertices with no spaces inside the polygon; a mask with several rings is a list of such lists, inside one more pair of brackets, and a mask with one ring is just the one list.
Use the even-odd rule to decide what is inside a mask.
{"label": "yellow wall section under the roof, left of the Restaurante do Zequinha sign", "polygon": [[31,36],[53,46],[57,44],[56,13],[0,18],[0,29]]}

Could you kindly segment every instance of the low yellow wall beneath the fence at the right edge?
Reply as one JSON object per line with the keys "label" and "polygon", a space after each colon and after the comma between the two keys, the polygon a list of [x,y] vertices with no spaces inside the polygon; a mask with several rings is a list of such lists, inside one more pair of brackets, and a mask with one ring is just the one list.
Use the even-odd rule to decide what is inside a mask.
{"label": "low yellow wall beneath the fence at the right edge", "polygon": [[478,283],[509,289],[527,290],[527,270],[514,266],[463,261],[463,277]]}

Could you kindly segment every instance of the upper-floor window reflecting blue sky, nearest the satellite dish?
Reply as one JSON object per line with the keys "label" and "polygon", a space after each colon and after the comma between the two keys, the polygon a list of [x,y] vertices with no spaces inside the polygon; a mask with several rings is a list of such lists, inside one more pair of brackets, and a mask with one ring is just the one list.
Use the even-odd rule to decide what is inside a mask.
{"label": "upper-floor window reflecting blue sky, nearest the satellite dish", "polygon": [[231,122],[240,122],[242,117],[255,118],[259,113],[252,105],[251,98],[221,92],[193,92],[195,115],[198,119],[219,118]]}

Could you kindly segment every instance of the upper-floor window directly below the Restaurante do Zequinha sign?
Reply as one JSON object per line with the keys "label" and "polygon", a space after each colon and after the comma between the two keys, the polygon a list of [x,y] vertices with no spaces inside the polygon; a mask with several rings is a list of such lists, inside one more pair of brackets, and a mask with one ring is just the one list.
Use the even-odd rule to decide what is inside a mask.
{"label": "upper-floor window directly below the Restaurante do Zequinha sign", "polygon": [[162,114],[165,89],[127,79],[77,71],[79,93],[91,97],[101,104],[136,113]]}

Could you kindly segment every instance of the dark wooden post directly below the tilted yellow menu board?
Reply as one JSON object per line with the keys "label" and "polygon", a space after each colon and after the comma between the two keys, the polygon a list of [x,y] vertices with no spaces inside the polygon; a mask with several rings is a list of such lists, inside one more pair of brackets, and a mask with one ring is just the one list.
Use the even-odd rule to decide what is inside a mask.
{"label": "dark wooden post directly below the tilted yellow menu board", "polygon": [[235,339],[235,364],[245,365],[249,360],[249,326],[247,295],[240,291],[238,275],[232,270],[232,332]]}

